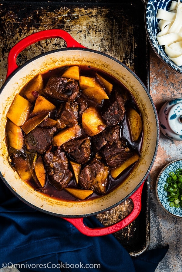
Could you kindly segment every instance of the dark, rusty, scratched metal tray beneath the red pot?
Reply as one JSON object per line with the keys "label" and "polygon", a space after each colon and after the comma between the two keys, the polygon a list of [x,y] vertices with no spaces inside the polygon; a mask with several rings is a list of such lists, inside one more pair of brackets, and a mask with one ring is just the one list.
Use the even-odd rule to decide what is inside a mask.
{"label": "dark, rusty, scratched metal tray beneath the red pot", "polygon": [[[149,48],[144,26],[145,1],[1,1],[0,2],[0,87],[5,81],[8,51],[22,38],[36,31],[59,28],[67,31],[83,46],[102,51],[122,61],[149,90]],[[35,43],[23,50],[17,64],[43,52],[64,48],[63,40],[54,38]],[[133,204],[126,200],[97,215],[104,225],[124,218]],[[115,237],[132,256],[147,250],[150,242],[150,178],[143,187],[140,215]]]}

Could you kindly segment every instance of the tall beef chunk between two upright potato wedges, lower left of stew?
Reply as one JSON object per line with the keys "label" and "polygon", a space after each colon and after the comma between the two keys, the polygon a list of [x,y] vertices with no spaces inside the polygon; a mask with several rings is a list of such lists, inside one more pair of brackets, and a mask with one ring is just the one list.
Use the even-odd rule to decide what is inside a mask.
{"label": "tall beef chunk between two upright potato wedges, lower left of stew", "polygon": [[65,188],[72,179],[72,172],[69,170],[69,161],[65,152],[58,147],[53,152],[48,152],[43,156],[49,182],[59,191]]}

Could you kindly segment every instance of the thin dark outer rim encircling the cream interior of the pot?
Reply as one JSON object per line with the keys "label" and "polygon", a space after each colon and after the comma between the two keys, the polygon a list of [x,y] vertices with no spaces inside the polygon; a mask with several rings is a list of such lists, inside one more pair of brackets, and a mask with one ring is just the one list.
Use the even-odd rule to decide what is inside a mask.
{"label": "thin dark outer rim encircling the cream interior of the pot", "polygon": [[29,61],[26,61],[24,64],[22,64],[20,67],[18,67],[15,71],[13,71],[12,74],[5,80],[5,83],[2,85],[2,87],[0,89],[0,95],[1,95],[2,90],[4,89],[4,87],[11,80],[11,78],[14,77],[18,71],[20,71],[21,69],[24,69],[24,67],[26,65],[28,65],[29,63],[35,61],[36,59],[39,59],[39,58],[44,57],[46,55],[49,55],[49,54],[52,54],[52,53],[55,53],[55,52],[60,52],[60,51],[89,51],[91,53],[95,53],[95,54],[102,55],[104,57],[108,57],[111,60],[113,60],[113,61],[117,62],[118,64],[120,64],[121,66],[123,66],[124,68],[126,68],[136,78],[136,80],[139,81],[139,83],[142,85],[143,89],[146,91],[146,93],[148,95],[148,98],[150,99],[150,103],[152,105],[152,108],[153,108],[153,111],[154,111],[154,115],[155,115],[155,121],[156,121],[156,124],[155,124],[156,131],[157,131],[157,135],[156,135],[156,146],[155,146],[155,150],[154,150],[154,153],[153,153],[153,158],[151,159],[150,166],[148,167],[148,169],[146,171],[146,174],[144,175],[143,179],[140,181],[140,183],[138,185],[136,185],[136,187],[133,189],[132,192],[130,192],[128,195],[126,195],[126,197],[122,198],[119,202],[111,205],[109,208],[104,208],[102,210],[99,210],[99,211],[96,211],[96,212],[93,212],[93,213],[82,214],[82,215],[80,215],[80,214],[79,215],[61,215],[61,214],[58,214],[58,213],[54,213],[54,212],[51,212],[51,211],[47,211],[47,210],[41,209],[41,208],[33,205],[32,203],[28,202],[27,200],[25,200],[15,190],[13,190],[13,188],[10,186],[10,184],[3,177],[3,174],[2,174],[1,169],[0,169],[0,177],[3,180],[3,182],[5,182],[5,184],[8,186],[8,188],[19,199],[21,199],[24,203],[26,203],[30,207],[34,208],[35,210],[38,210],[38,211],[41,211],[41,212],[45,212],[45,213],[47,213],[49,215],[62,216],[62,217],[68,217],[68,218],[80,218],[80,217],[87,217],[87,216],[91,216],[91,215],[97,215],[99,213],[102,213],[104,211],[112,209],[112,208],[116,207],[117,205],[121,204],[122,202],[124,202],[126,199],[130,198],[130,196],[133,195],[134,192],[136,192],[136,190],[140,187],[140,185],[142,185],[143,182],[148,178],[148,176],[150,174],[150,171],[151,171],[151,169],[153,167],[154,161],[155,161],[156,156],[157,156],[158,146],[159,146],[159,131],[160,130],[159,130],[158,115],[157,115],[157,110],[156,110],[155,104],[153,102],[153,99],[152,99],[149,91],[147,90],[147,87],[143,84],[143,82],[140,80],[140,78],[129,67],[127,67],[125,64],[123,64],[121,61],[117,60],[115,57],[112,57],[112,56],[110,56],[110,55],[108,55],[106,53],[103,53],[103,52],[100,52],[100,51],[96,51],[96,50],[93,50],[93,49],[89,49],[89,48],[62,48],[62,49],[51,50],[51,51],[48,51],[48,52],[45,52],[45,53],[39,54],[38,56],[33,57],[32,59],[30,59]]}

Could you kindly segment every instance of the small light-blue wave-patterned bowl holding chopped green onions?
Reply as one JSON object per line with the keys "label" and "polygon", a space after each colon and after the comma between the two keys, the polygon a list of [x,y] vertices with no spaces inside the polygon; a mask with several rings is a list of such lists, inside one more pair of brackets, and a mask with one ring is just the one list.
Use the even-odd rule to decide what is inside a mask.
{"label": "small light-blue wave-patterned bowl holding chopped green onions", "polygon": [[170,207],[167,192],[164,190],[164,185],[166,184],[169,173],[175,172],[178,168],[182,168],[182,159],[170,162],[162,169],[156,182],[156,195],[160,205],[165,211],[175,217],[182,217],[182,208]]}

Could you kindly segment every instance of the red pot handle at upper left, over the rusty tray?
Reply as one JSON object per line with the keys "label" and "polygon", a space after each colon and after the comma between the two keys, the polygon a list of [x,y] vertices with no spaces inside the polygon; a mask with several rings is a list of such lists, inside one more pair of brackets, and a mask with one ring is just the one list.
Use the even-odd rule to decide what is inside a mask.
{"label": "red pot handle at upper left, over the rusty tray", "polygon": [[79,44],[77,41],[75,41],[75,39],[73,39],[68,32],[61,29],[49,29],[35,32],[23,38],[9,51],[6,79],[13,71],[15,71],[15,69],[18,68],[18,65],[16,64],[16,58],[22,50],[37,41],[45,40],[48,38],[62,38],[64,41],[66,41],[67,48],[86,48],[83,45]]}

